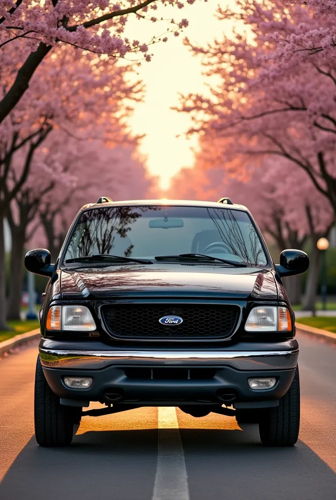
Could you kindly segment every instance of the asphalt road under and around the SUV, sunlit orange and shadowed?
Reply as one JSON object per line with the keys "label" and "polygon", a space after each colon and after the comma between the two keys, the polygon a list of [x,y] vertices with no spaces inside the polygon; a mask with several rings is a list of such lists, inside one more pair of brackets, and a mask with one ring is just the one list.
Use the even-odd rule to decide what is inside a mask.
{"label": "asphalt road under and around the SUV, sunlit orange and shadowed", "polygon": [[336,499],[336,344],[303,334],[300,439],[263,448],[257,427],[174,408],[85,417],[69,448],[33,436],[36,344],[0,360],[1,500]]}

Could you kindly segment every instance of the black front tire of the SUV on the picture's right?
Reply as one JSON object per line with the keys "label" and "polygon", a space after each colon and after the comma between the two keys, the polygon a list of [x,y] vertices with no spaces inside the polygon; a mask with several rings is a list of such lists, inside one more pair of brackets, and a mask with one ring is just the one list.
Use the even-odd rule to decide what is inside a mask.
{"label": "black front tire of the SUV on the picture's right", "polygon": [[279,405],[264,411],[259,422],[259,434],[264,446],[293,446],[300,424],[300,384],[296,366],[288,392]]}

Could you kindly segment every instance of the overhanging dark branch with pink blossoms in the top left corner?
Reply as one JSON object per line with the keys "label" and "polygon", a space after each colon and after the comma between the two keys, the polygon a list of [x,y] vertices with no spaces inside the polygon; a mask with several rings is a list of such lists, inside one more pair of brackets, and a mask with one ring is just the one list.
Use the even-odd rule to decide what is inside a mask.
{"label": "overhanging dark branch with pink blossoms in the top left corner", "polygon": [[[195,0],[186,0],[194,3]],[[81,53],[125,57],[135,53],[150,60],[150,44],[166,36],[147,40],[129,40],[124,35],[130,15],[151,22],[163,21],[155,12],[157,6],[183,7],[180,0],[27,0],[0,1],[0,66],[7,58],[7,49],[15,48],[16,71],[9,86],[0,95],[0,122],[10,113],[29,86],[31,77],[41,61],[59,46],[71,45]],[[179,34],[188,22],[166,19],[163,31]],[[2,89],[1,89],[2,90]]]}

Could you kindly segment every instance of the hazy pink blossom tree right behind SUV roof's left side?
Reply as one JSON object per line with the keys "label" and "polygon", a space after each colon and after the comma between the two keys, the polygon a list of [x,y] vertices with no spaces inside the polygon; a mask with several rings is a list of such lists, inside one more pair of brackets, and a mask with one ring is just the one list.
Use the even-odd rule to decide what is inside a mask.
{"label": "hazy pink blossom tree right behind SUV roof's left side", "polygon": [[29,246],[45,244],[55,260],[81,206],[95,202],[99,196],[113,200],[146,198],[156,189],[157,179],[147,174],[143,161],[131,144],[110,148],[101,141],[87,143],[83,160],[78,156],[71,162],[71,172],[78,178],[76,188],[56,184],[44,196],[38,209],[44,235],[39,233],[37,241],[32,238]]}

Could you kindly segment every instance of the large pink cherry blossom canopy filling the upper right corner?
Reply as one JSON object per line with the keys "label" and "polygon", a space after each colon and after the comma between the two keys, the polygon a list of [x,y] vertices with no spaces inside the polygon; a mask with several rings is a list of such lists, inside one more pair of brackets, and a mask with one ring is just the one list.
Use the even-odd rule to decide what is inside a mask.
{"label": "large pink cherry blossom canopy filling the upper right corner", "polygon": [[325,50],[307,56],[289,43],[308,28],[310,34],[332,31],[334,17],[326,13],[334,2],[327,9],[316,1],[237,3],[235,12],[218,10],[222,19],[237,19],[239,33],[232,39],[224,36],[207,47],[187,41],[203,57],[209,81],[220,77],[210,95],[182,98],[181,109],[194,120],[190,132],[230,141],[223,151],[231,159],[252,156],[258,162],[270,154],[288,159],[336,213],[336,47],[329,37]]}

